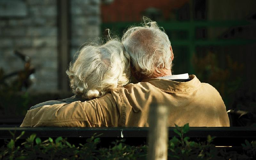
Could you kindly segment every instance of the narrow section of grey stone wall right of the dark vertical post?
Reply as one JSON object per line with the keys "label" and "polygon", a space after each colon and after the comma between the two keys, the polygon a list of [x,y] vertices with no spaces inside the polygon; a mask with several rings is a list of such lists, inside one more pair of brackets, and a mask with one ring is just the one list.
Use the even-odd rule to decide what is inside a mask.
{"label": "narrow section of grey stone wall right of the dark vertical post", "polygon": [[100,0],[71,1],[71,60],[85,42],[100,36]]}

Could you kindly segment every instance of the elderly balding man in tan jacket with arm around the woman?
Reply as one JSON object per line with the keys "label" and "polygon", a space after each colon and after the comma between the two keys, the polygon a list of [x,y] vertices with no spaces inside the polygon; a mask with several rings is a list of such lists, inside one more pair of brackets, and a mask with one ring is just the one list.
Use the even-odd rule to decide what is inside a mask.
{"label": "elderly balding man in tan jacket with arm around the woman", "polygon": [[140,83],[98,99],[29,110],[21,126],[148,127],[152,104],[169,108],[169,126],[229,126],[226,107],[214,87],[195,75],[172,75],[171,43],[156,22],[128,29],[122,42]]}

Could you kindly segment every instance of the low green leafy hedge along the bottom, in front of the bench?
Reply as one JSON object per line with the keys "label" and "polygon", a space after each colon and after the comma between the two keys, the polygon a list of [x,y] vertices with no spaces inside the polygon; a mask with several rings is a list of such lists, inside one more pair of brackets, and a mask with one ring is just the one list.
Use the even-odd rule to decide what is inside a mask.
{"label": "low green leafy hedge along the bottom, in front of the bench", "polygon": [[[256,142],[249,143],[245,140],[242,144],[243,153],[225,151],[211,144],[214,137],[210,135],[205,142],[195,142],[184,137],[189,131],[188,124],[178,127],[174,132],[178,134],[169,140],[168,159],[256,159]],[[148,146],[130,146],[125,140],[112,142],[109,148],[98,148],[99,135],[93,135],[84,144],[78,146],[70,144],[65,138],[58,137],[55,140],[49,138],[42,141],[36,134],[32,134],[21,146],[17,146],[17,140],[24,132],[13,139],[6,140],[6,145],[1,148],[0,159],[146,159]]]}

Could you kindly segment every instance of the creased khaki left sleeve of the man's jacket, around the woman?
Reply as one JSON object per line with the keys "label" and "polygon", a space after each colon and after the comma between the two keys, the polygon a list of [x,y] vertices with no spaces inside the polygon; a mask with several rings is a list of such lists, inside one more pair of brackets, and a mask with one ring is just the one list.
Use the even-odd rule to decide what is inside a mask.
{"label": "creased khaki left sleeve of the man's jacket, around the woman", "polygon": [[120,112],[111,94],[89,101],[46,105],[28,110],[20,127],[117,126]]}

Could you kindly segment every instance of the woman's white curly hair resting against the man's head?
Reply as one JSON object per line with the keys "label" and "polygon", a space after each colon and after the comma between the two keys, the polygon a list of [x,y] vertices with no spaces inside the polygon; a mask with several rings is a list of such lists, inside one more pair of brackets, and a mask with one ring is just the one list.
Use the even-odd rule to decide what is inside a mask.
{"label": "woman's white curly hair resting against the man's head", "polygon": [[73,93],[87,100],[98,98],[128,84],[130,57],[117,39],[103,45],[90,44],[81,49],[66,73]]}

